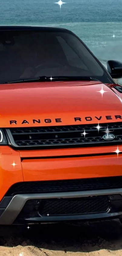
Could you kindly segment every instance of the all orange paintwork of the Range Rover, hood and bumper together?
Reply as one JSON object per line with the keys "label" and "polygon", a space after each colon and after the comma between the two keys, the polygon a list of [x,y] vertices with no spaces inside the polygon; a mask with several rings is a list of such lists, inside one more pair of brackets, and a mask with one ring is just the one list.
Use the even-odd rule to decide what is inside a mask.
{"label": "all orange paintwork of the Range Rover, hood and bumper together", "polygon": [[[116,119],[115,115],[122,116],[122,103],[111,89],[112,86],[96,81],[0,85],[0,125],[2,128],[10,128],[97,124],[98,121],[99,123],[118,122],[120,120]],[[106,91],[103,97],[99,92],[102,87]],[[92,121],[85,120],[85,117],[89,116],[92,117]],[[100,120],[95,118],[101,116]],[[106,116],[111,116],[112,120],[107,120]],[[81,117],[81,122],[75,122],[74,117]],[[45,118],[51,119],[51,123],[45,124]],[[60,118],[62,123],[56,123],[56,118]],[[33,119],[40,119],[41,123],[33,124]],[[10,120],[17,120],[17,124],[10,125]],[[27,120],[29,124],[22,124],[23,120]],[[117,146],[95,146],[14,150],[9,146],[0,146],[0,200],[16,182],[122,175],[121,154],[118,158],[116,153],[85,156],[111,154],[116,149]],[[122,151],[122,146],[119,146],[119,150]],[[60,156],[62,158],[55,158]],[[47,159],[41,159],[42,157]]]}

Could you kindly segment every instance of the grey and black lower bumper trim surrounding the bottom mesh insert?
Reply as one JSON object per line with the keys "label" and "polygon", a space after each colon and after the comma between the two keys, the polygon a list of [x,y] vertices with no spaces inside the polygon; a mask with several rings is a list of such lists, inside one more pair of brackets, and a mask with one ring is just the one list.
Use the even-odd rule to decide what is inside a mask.
{"label": "grey and black lower bumper trim surrounding the bottom mesh insert", "polygon": [[[20,215],[24,205],[28,200],[44,200],[44,199],[52,199],[52,198],[88,198],[88,197],[99,197],[99,196],[107,196],[109,207],[106,212],[101,212],[97,214],[74,214],[72,212],[70,215],[56,215],[51,216],[50,212],[44,216],[41,216],[37,207],[37,211],[35,212],[35,204],[32,204],[30,207],[30,211],[32,216],[27,218],[26,212],[25,217],[18,216]],[[3,200],[1,204],[5,205],[5,201]],[[0,204],[0,207],[1,207]],[[117,211],[118,210],[118,211]],[[77,211],[77,210],[76,210]],[[34,216],[35,215],[35,216]],[[3,212],[0,217],[0,225],[11,225],[11,224],[21,224],[21,223],[33,223],[33,222],[54,222],[54,221],[71,221],[71,220],[92,220],[92,219],[103,219],[103,218],[121,218],[122,216],[122,189],[106,189],[106,190],[96,190],[96,191],[80,191],[80,192],[67,192],[67,193],[44,193],[44,194],[19,194],[15,195],[7,208]]]}

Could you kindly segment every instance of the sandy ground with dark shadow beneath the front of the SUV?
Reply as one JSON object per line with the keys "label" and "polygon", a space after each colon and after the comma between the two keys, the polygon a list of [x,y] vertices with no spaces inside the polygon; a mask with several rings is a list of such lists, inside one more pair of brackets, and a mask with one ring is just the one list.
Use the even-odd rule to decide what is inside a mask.
{"label": "sandy ground with dark shadow beneath the front of the SUV", "polygon": [[0,256],[122,255],[118,220],[29,226],[0,227]]}

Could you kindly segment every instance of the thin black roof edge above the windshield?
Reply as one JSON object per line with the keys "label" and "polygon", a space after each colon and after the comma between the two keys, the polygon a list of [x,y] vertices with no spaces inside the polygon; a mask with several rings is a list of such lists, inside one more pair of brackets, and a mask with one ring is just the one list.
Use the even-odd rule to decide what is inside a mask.
{"label": "thin black roof edge above the windshield", "polygon": [[24,25],[0,25],[0,31],[14,31],[14,30],[39,30],[39,31],[54,31],[54,32],[71,32],[68,29],[61,27],[49,27],[49,26],[24,26]]}

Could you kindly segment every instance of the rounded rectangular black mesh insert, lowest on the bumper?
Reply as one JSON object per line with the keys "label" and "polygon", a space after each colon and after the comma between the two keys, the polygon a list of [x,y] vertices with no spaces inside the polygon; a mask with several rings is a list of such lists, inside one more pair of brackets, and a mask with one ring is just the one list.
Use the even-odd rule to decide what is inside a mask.
{"label": "rounded rectangular black mesh insert, lowest on the bumper", "polygon": [[102,213],[109,209],[106,197],[45,199],[39,213],[49,215],[81,215]]}

